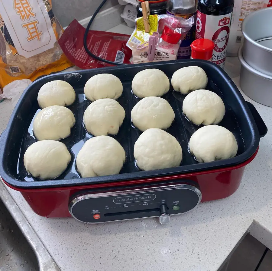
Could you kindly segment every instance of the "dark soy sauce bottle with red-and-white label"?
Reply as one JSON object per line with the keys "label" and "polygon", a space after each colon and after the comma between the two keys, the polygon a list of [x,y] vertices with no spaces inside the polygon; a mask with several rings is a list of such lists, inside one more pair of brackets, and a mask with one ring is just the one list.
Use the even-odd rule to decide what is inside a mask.
{"label": "dark soy sauce bottle with red-and-white label", "polygon": [[212,62],[225,67],[234,0],[198,0],[196,39],[214,42]]}

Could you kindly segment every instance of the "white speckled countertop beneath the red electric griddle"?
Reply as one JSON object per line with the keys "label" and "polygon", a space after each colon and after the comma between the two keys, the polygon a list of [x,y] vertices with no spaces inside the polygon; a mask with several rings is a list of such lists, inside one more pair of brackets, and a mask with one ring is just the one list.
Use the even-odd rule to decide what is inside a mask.
{"label": "white speckled countertop beneath the red electric griddle", "polygon": [[[240,65],[228,58],[225,70],[239,85]],[[257,90],[256,90],[257,91]],[[62,271],[216,271],[248,231],[272,249],[272,108],[254,104],[268,133],[232,196],[201,203],[167,225],[158,219],[87,225],[73,218],[36,215],[20,192],[8,189]],[[0,131],[12,109],[0,103]]]}

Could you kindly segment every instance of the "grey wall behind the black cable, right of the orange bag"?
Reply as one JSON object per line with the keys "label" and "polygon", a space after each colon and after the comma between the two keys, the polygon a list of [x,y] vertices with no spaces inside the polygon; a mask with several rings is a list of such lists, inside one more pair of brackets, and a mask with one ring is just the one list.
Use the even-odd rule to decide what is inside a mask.
{"label": "grey wall behind the black cable, right of the orange bag", "polygon": [[[102,0],[52,0],[53,12],[60,24],[66,27],[76,18],[78,21],[91,16]],[[103,9],[118,5],[117,0],[108,0]]]}

